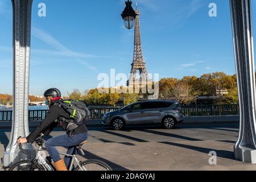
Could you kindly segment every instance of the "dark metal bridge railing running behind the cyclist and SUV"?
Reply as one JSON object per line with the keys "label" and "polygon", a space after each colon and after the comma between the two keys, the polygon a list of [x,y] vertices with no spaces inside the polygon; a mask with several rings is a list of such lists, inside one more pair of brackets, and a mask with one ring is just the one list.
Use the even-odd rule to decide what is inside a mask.
{"label": "dark metal bridge railing running behind the cyclist and SUV", "polygon": [[[182,106],[182,113],[185,117],[189,116],[214,116],[214,115],[239,115],[239,105],[189,105]],[[112,108],[90,108],[91,119],[101,119],[105,113],[120,109]],[[29,121],[42,121],[46,118],[48,110],[29,110]],[[13,111],[0,110],[0,122],[13,121]]]}

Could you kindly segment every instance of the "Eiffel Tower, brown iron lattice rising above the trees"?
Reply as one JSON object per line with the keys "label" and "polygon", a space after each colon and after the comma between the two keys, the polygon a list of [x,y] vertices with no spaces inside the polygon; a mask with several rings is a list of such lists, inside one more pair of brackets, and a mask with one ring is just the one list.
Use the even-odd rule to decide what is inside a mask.
{"label": "Eiffel Tower, brown iron lattice rising above the trees", "polygon": [[[148,79],[146,62],[143,59],[142,46],[141,46],[141,30],[139,28],[139,11],[136,10],[137,14],[135,18],[135,29],[134,29],[134,54],[133,64],[131,64],[131,73],[127,86],[136,85],[147,85],[152,84],[152,80]],[[140,78],[137,78],[137,71],[139,70]]]}

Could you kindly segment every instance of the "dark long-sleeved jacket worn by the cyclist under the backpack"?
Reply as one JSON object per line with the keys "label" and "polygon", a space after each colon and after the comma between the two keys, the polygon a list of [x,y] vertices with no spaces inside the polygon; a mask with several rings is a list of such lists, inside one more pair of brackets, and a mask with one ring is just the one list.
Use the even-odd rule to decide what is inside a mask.
{"label": "dark long-sleeved jacket worn by the cyclist under the backpack", "polygon": [[[38,127],[27,137],[27,141],[29,143],[34,143],[36,138],[38,138],[42,133],[44,135],[49,135],[51,131],[59,125],[57,119],[59,117],[69,118],[69,114],[59,105],[56,105],[56,102],[59,101],[53,100],[52,105],[49,108],[48,113],[46,114],[46,118],[44,121],[40,123]],[[66,123],[63,123],[63,127],[65,129]],[[87,128],[85,125],[77,127],[72,131],[73,135],[87,133]]]}

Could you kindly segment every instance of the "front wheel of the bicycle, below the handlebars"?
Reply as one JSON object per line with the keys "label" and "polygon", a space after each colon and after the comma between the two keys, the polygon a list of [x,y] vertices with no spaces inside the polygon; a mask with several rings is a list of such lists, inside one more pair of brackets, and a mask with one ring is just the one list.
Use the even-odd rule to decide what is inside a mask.
{"label": "front wheel of the bicycle, below the handlebars", "polygon": [[39,164],[32,163],[32,160],[21,160],[14,164],[9,171],[44,171]]}

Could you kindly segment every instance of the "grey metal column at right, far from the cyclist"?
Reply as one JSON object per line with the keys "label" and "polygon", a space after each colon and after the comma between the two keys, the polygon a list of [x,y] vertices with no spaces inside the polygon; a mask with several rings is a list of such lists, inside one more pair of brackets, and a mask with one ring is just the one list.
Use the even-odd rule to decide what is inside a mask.
{"label": "grey metal column at right, far from the cyclist", "polygon": [[256,164],[255,68],[250,0],[230,0],[234,55],[240,100],[240,133],[236,160]]}

